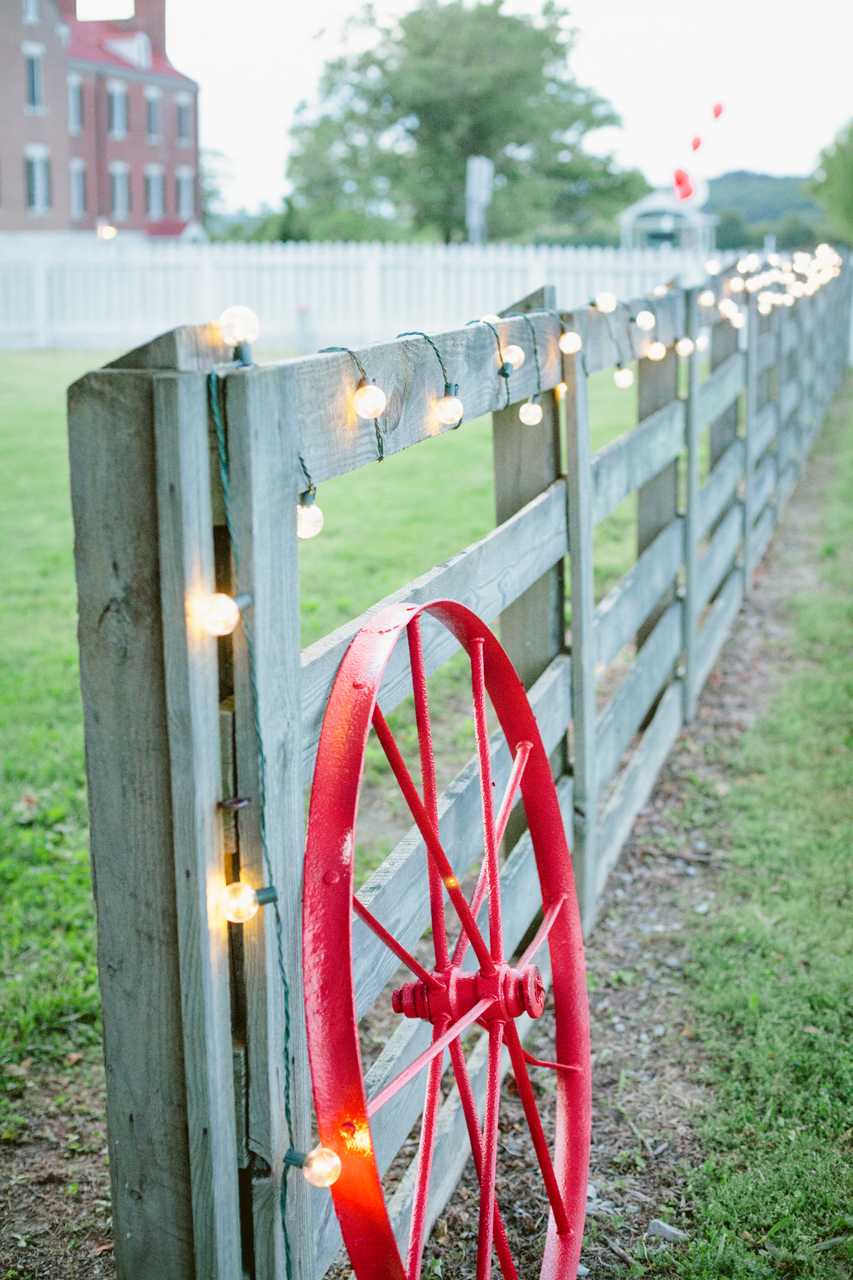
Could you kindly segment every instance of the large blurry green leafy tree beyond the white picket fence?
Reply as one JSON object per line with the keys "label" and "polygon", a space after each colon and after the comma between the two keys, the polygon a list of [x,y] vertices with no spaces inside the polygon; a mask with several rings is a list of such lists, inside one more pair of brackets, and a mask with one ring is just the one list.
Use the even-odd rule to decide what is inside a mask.
{"label": "large blurry green leafy tree beyond the white picket fence", "polygon": [[351,37],[369,47],[327,64],[320,105],[293,128],[293,225],[313,238],[465,238],[465,164],[494,161],[492,238],[532,238],[612,218],[648,191],[637,172],[587,155],[619,116],[569,69],[566,10],[537,17],[503,0],[419,8],[382,26],[368,8]]}

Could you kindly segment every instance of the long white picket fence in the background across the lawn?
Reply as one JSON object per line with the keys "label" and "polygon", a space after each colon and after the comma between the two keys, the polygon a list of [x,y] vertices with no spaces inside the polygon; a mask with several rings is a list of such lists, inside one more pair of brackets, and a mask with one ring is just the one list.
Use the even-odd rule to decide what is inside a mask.
{"label": "long white picket fence in the background across the lawn", "polygon": [[[724,255],[721,255],[724,256]],[[725,255],[726,261],[731,255]],[[0,236],[0,347],[134,346],[234,302],[260,346],[307,353],[403,329],[453,329],[553,284],[564,308],[695,284],[704,255],[529,244],[159,244],[83,233]]]}

